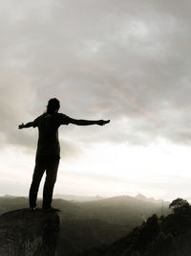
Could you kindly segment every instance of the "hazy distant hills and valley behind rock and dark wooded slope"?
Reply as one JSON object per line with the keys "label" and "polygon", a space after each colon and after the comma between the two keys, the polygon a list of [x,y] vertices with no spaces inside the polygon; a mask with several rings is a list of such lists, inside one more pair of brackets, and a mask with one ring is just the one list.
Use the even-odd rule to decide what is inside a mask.
{"label": "hazy distant hills and valley behind rock and dark wooded slope", "polygon": [[[63,251],[64,255],[72,256],[91,247],[111,244],[151,215],[169,213],[168,202],[142,195],[101,199],[58,196],[68,198],[53,199],[53,207],[61,210],[58,256],[63,255]],[[41,200],[38,201],[40,206]],[[8,195],[0,198],[0,214],[26,207],[28,198]]]}

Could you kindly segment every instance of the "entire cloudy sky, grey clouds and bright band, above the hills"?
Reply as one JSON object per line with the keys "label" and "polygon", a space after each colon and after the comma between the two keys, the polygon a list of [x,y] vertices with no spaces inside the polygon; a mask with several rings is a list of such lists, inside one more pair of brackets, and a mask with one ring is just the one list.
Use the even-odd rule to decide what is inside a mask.
{"label": "entire cloudy sky, grey clouds and bright band, above the hills", "polygon": [[38,131],[17,127],[56,97],[111,122],[59,128],[55,194],[191,199],[190,1],[0,6],[0,195],[28,195]]}

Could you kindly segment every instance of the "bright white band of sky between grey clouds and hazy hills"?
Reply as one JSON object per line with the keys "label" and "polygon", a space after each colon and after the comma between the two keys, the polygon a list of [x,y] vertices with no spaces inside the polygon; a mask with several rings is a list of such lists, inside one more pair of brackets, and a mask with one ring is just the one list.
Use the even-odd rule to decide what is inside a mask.
{"label": "bright white band of sky between grey clouds and hazy hills", "polygon": [[[0,161],[1,194],[14,194],[11,190],[16,188],[16,195],[26,196],[34,157],[12,149],[4,151]],[[61,160],[55,193],[105,197],[142,193],[172,199],[180,195],[177,189],[186,180],[182,196],[189,197],[190,169],[189,147],[163,140],[148,147],[98,144]]]}

